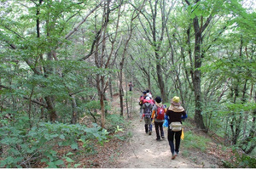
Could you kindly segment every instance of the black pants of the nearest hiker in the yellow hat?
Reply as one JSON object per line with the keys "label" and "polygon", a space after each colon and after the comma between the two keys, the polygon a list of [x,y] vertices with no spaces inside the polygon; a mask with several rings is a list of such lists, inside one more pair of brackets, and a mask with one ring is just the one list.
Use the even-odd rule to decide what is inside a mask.
{"label": "black pants of the nearest hiker in the yellow hat", "polygon": [[[168,142],[171,148],[172,155],[174,154],[174,151],[178,153],[179,151],[179,145],[180,145],[180,136],[182,131],[179,132],[173,132],[170,127],[168,128]],[[175,138],[175,146],[174,146],[174,138]]]}

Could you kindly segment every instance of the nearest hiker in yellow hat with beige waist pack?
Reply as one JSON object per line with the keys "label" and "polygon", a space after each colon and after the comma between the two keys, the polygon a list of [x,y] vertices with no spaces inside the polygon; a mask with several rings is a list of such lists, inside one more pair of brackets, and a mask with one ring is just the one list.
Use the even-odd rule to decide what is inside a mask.
{"label": "nearest hiker in yellow hat with beige waist pack", "polygon": [[[173,97],[170,107],[166,110],[166,120],[168,121],[168,142],[172,152],[172,160],[178,155],[179,144],[182,133],[182,119],[187,118],[186,111],[181,106],[179,97]],[[175,146],[174,146],[175,138]]]}

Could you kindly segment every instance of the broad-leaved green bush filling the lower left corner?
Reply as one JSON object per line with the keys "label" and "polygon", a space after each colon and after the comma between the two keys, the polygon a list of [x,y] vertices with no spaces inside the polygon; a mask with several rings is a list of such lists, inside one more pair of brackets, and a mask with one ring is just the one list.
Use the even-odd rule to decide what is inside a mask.
{"label": "broad-leaved green bush filling the lower left corner", "polygon": [[[27,120],[20,118],[13,126],[1,127],[0,144],[4,149],[1,167],[27,167],[39,159],[46,162],[49,167],[63,166],[61,158],[67,162],[73,161],[67,156],[57,155],[56,145],[79,149],[78,140],[90,142],[96,139],[97,143],[103,144],[108,139],[108,132],[96,124],[88,128],[79,124],[41,122],[38,127],[29,130],[27,125],[24,125],[27,124]],[[92,150],[85,149],[88,152]]]}

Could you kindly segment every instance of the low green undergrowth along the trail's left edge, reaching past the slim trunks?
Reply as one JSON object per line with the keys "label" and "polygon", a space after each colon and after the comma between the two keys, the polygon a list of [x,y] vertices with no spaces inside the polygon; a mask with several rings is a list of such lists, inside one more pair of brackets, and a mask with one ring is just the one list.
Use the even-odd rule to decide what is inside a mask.
{"label": "low green undergrowth along the trail's left edge, reaching past the slim trunks", "polygon": [[[64,124],[40,122],[29,127],[28,118],[20,117],[20,121],[6,123],[0,128],[0,167],[33,167],[43,162],[48,167],[78,167],[72,159],[72,152],[58,154],[58,149],[68,146],[76,150],[76,154],[94,155],[95,145],[103,145],[112,137],[124,140],[129,134],[123,132],[128,125],[120,115],[108,115],[108,130],[93,123],[93,127],[80,124]],[[129,137],[129,136],[128,136]],[[82,147],[79,146],[82,144]]]}

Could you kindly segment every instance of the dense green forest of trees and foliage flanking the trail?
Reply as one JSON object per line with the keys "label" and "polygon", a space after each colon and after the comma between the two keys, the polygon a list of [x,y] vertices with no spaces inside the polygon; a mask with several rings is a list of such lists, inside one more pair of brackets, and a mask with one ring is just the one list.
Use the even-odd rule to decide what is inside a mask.
{"label": "dense green forest of trees and foliage flanking the trail", "polygon": [[196,130],[253,157],[255,5],[1,0],[0,167],[61,167],[56,145],[103,144],[138,104],[128,82],[166,104],[179,96]]}

